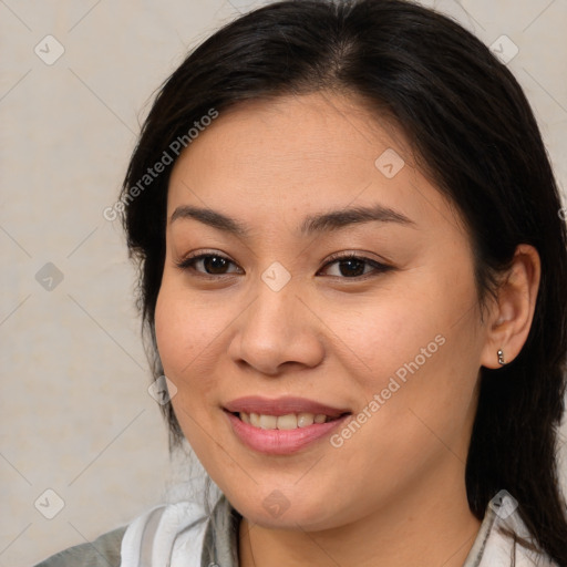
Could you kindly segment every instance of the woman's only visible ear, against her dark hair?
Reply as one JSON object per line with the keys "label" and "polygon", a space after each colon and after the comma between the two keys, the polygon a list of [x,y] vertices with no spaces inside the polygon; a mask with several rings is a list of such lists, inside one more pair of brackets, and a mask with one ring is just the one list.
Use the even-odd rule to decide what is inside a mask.
{"label": "woman's only visible ear, against her dark hair", "polygon": [[502,368],[498,350],[508,363],[524,347],[534,319],[540,266],[539,255],[533,246],[522,244],[516,248],[513,265],[498,288],[497,302],[486,323],[486,341],[481,357],[483,367]]}

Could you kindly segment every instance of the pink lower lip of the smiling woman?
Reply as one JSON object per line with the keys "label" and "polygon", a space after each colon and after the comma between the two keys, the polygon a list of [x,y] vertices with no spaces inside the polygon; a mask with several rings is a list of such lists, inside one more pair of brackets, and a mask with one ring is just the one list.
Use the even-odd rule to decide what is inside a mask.
{"label": "pink lower lip of the smiling woman", "polygon": [[225,411],[236,436],[248,447],[268,455],[289,455],[303,449],[339,427],[349,415],[326,423],[313,423],[293,430],[262,430],[245,423],[233,413]]}

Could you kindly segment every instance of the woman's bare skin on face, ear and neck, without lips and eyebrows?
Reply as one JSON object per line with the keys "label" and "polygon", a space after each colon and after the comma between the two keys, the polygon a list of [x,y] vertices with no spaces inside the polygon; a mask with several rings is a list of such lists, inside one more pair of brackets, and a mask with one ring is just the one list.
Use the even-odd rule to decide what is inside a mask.
{"label": "woman's bare skin on face, ear and neck, without lips and eyebrows", "polygon": [[[392,178],[374,165],[388,148],[405,161]],[[464,470],[478,373],[499,368],[498,349],[506,362],[522,349],[539,258],[518,247],[481,320],[470,238],[413,162],[401,132],[361,101],[320,92],[220,113],[174,167],[157,344],[184,434],[244,516],[241,567],[456,567],[477,535]],[[297,231],[307,215],[378,203],[412,224]],[[183,205],[250,234],[172,223]],[[213,274],[210,262],[176,266],[203,251],[229,262]],[[329,264],[343,251],[392,269],[360,264],[355,278]],[[261,279],[274,261],[291,276],[279,291]],[[292,455],[259,454],[221,410],[243,395],[297,395],[357,415],[437,336],[445,342],[340,447],[324,437]],[[288,504],[277,517],[264,506],[275,489]]]}

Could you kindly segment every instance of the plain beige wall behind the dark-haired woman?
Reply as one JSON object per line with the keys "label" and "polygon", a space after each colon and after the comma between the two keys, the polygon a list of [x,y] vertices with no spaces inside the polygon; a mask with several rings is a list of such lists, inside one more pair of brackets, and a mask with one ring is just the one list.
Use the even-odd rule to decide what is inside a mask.
{"label": "plain beige wall behind the dark-haired woman", "polygon": [[[425,3],[487,44],[506,34],[518,47],[508,65],[565,186],[567,2]],[[147,393],[121,227],[102,212],[116,199],[151,94],[188,49],[250,6],[0,0],[0,567],[33,565],[126,524],[176,497],[167,491],[185,478],[168,463]],[[64,49],[51,65],[34,52],[56,54],[48,34]],[[52,290],[35,277],[47,262],[63,277]],[[566,467],[563,447],[564,484]],[[55,509],[45,489],[64,501],[53,519],[34,507],[40,498],[39,508]]]}

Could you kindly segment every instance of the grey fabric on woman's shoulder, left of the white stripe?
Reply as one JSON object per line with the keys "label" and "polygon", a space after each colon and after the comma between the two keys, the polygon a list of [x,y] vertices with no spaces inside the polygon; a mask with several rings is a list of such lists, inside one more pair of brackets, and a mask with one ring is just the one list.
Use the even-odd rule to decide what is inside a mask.
{"label": "grey fabric on woman's shoulder, left of the white stripe", "polygon": [[106,532],[94,542],[69,547],[35,567],[120,567],[121,545],[126,527]]}

